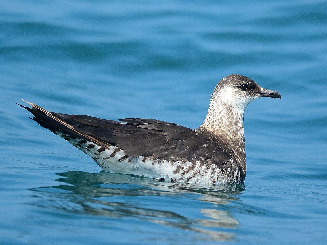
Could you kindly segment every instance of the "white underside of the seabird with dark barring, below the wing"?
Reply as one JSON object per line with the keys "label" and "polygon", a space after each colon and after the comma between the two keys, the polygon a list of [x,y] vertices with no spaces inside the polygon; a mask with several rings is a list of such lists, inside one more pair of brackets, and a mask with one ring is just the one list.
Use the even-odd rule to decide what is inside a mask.
{"label": "white underside of the seabird with dark barring, below the wing", "polygon": [[[116,146],[109,149],[96,145],[88,140],[68,139],[61,132],[54,132],[69,143],[92,157],[95,162],[107,172],[134,174],[150,178],[163,178],[177,182],[188,183],[233,183],[238,170],[222,173],[214,164],[208,166],[200,161],[166,161],[152,160],[144,156],[130,157]],[[230,171],[230,170],[229,170]],[[234,175],[234,176],[232,176]]]}

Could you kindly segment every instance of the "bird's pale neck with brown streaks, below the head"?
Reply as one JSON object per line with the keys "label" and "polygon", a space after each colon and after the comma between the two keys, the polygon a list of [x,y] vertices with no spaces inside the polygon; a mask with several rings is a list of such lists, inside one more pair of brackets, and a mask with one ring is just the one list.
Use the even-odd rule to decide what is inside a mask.
{"label": "bird's pale neck with brown streaks, below the head", "polygon": [[231,105],[220,100],[210,101],[206,119],[200,126],[213,134],[218,142],[246,171],[243,117],[246,105]]}

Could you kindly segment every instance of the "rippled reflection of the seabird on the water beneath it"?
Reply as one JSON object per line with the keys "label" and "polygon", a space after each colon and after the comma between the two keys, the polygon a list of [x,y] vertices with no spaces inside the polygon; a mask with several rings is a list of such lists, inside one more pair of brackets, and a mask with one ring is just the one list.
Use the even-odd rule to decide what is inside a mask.
{"label": "rippled reflection of the seabird on the water beneath it", "polygon": [[[239,224],[236,219],[231,217],[229,211],[219,209],[219,207],[226,207],[231,202],[238,201],[237,195],[244,190],[243,186],[180,184],[108,172],[68,171],[57,173],[57,175],[60,178],[55,181],[64,184],[31,189],[51,198],[51,204],[46,202],[43,205],[38,200],[38,206],[49,208],[50,205],[52,208],[59,208],[65,212],[108,218],[133,217],[194,231],[205,235],[206,239],[217,241],[233,240],[234,233],[230,229],[237,229]],[[180,208],[174,210],[169,207],[169,203],[163,207],[162,203],[167,199],[165,201],[160,199],[180,195],[179,200],[187,206],[187,200],[183,200],[183,198],[185,199],[185,195],[190,194],[193,195],[193,200],[209,203],[209,206],[201,205],[206,208],[199,208],[196,216],[201,219],[179,214],[178,209]],[[194,195],[197,196],[194,197]],[[140,197],[143,199],[139,200]],[[151,205],[146,205],[147,198]],[[190,197],[187,198],[190,199]],[[178,203],[175,200],[170,201]],[[160,207],[153,208],[156,202],[160,203]],[[160,209],[170,209],[170,211]]]}

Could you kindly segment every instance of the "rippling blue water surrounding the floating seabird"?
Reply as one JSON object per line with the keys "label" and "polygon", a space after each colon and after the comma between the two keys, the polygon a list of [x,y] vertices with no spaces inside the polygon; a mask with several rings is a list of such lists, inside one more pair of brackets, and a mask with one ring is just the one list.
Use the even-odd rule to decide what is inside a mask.
{"label": "rippling blue water surrounding the floating seabird", "polygon": [[[326,20],[318,0],[1,0],[1,243],[325,243]],[[102,172],[14,104],[196,128],[234,73],[283,96],[246,109],[244,186]]]}

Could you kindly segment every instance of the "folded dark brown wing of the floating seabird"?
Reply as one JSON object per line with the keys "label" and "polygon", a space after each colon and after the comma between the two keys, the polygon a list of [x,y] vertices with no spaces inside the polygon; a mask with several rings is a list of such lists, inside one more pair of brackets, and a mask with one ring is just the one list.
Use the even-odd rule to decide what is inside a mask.
{"label": "folded dark brown wing of the floating seabird", "polygon": [[125,118],[118,121],[83,115],[52,115],[73,125],[78,132],[115,145],[129,156],[161,160],[200,160],[224,164],[232,158],[201,133],[153,119]]}

